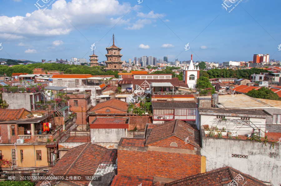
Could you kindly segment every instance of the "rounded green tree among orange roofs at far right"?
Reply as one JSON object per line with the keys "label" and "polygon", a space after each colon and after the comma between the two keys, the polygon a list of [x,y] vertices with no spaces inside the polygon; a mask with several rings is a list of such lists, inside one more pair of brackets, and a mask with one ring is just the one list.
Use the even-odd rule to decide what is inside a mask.
{"label": "rounded green tree among orange roofs at far right", "polygon": [[253,98],[261,98],[267,100],[279,100],[278,94],[271,91],[269,88],[262,87],[258,90],[251,90],[246,95]]}

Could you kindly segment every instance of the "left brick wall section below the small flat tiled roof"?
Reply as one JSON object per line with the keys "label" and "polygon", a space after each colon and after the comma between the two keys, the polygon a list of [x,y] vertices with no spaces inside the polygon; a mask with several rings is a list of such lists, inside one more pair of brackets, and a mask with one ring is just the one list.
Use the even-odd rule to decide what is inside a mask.
{"label": "left brick wall section below the small flat tiled roof", "polygon": [[147,152],[118,150],[118,174],[147,176]]}

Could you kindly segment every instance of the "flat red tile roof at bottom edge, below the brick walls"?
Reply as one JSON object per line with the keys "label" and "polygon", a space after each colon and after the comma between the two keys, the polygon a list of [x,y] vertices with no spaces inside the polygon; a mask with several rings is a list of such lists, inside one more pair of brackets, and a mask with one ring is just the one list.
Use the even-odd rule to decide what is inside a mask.
{"label": "flat red tile roof at bottom edge, below the brick walls", "polygon": [[111,186],[151,186],[153,182],[152,176],[147,176],[146,178],[140,176],[126,176],[123,174],[117,174]]}

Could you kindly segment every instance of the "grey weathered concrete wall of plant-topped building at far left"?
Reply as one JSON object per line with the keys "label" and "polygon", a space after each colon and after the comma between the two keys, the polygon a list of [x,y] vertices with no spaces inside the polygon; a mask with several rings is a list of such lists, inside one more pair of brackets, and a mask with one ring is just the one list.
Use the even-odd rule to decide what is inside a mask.
{"label": "grey weathered concrete wall of plant-topped building at far left", "polygon": [[31,110],[30,94],[28,93],[2,93],[2,98],[9,104],[8,109],[25,108]]}

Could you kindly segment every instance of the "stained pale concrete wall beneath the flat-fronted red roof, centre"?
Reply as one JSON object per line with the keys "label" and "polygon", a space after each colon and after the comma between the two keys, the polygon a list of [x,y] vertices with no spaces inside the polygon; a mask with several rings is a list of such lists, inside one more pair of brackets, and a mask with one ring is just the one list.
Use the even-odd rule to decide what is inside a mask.
{"label": "stained pale concrete wall beneath the flat-fronted red roof, centre", "polygon": [[126,137],[127,129],[123,128],[91,128],[91,139],[96,143],[118,143],[121,137]]}

